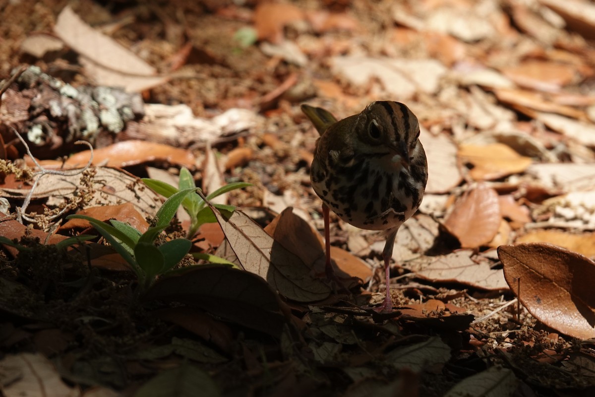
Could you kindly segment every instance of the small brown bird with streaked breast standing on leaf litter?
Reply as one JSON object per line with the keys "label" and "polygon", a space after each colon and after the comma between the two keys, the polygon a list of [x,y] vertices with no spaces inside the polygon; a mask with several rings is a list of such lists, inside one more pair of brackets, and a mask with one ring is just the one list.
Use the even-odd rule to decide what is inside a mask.
{"label": "small brown bird with streaked breast standing on leaf litter", "polygon": [[419,142],[419,122],[408,107],[376,101],[364,111],[337,121],[322,109],[302,105],[320,133],[310,179],[322,199],[326,272],[330,261],[328,209],[361,229],[386,230],[382,252],[386,298],[377,311],[390,311],[389,276],[394,237],[417,211],[428,180],[428,163]]}

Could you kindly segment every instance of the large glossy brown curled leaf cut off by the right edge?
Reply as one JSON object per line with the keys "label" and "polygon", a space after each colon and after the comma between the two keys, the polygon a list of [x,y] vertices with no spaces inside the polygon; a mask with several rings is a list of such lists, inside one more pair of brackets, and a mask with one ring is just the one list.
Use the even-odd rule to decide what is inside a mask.
{"label": "large glossy brown curled leaf cut off by the right edge", "polygon": [[503,245],[498,256],[506,282],[534,317],[566,335],[595,337],[595,262],[543,243]]}

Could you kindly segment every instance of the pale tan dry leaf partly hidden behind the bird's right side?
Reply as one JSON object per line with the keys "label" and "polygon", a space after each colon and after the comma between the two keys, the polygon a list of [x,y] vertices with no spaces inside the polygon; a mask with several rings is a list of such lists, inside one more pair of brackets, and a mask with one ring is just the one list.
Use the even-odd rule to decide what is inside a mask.
{"label": "pale tan dry leaf partly hidden behind the bird's right side", "polygon": [[456,145],[446,135],[432,135],[421,127],[419,140],[428,158],[427,193],[446,193],[461,183],[462,176],[456,164]]}

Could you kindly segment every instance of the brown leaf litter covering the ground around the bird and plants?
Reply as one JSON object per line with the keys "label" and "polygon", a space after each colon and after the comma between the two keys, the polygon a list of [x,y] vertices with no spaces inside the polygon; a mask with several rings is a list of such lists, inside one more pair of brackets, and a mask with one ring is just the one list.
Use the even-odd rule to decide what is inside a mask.
{"label": "brown leaf litter covering the ground around the bird and plants", "polygon": [[[184,8],[183,20],[168,5],[131,5],[136,17],[121,24],[101,5],[38,5],[47,18],[36,31],[56,32],[78,58],[21,30],[19,40],[29,39],[22,53],[6,47],[12,37],[0,43],[2,77],[26,55],[44,70],[82,71],[76,79],[62,73],[65,83],[124,86],[161,103],[145,104],[145,118],[117,137],[105,119],[94,142],[98,166],[83,178],[46,174],[29,194],[32,182],[0,170],[8,215],[29,196],[33,220],[29,228],[10,218],[0,224],[11,240],[0,267],[0,310],[12,316],[0,321],[2,345],[22,355],[33,340],[83,395],[93,395],[86,385],[94,383],[114,395],[156,387],[212,395],[592,392],[595,24],[592,5],[567,3],[205,2]],[[33,26],[29,6],[7,7]],[[234,39],[241,29],[253,30],[251,42]],[[95,48],[77,41],[85,37],[95,37]],[[129,62],[148,68],[121,70]],[[106,72],[115,80],[101,80]],[[17,79],[3,96],[2,160],[22,157],[14,126],[30,145],[51,148],[33,151],[57,159],[43,167],[82,166],[88,152],[61,146],[71,139],[64,120],[79,119],[59,116],[51,100],[32,102],[40,87]],[[384,317],[362,310],[385,287],[375,271],[381,236],[333,218],[331,255],[347,288],[320,277],[320,202],[308,178],[317,133],[299,112],[308,101],[346,117],[376,99],[411,105],[430,168],[425,203],[397,236],[397,306]],[[214,210],[220,225],[208,225],[219,237],[205,227],[193,245],[245,270],[186,257],[179,273],[135,296],[130,268],[100,240],[66,251],[46,245],[78,233],[46,212],[66,206],[155,222],[161,198],[136,179],[149,165],[189,168],[206,192],[254,185],[222,196],[240,209]],[[186,229],[173,223],[160,243]],[[39,379],[55,382],[51,371]]]}

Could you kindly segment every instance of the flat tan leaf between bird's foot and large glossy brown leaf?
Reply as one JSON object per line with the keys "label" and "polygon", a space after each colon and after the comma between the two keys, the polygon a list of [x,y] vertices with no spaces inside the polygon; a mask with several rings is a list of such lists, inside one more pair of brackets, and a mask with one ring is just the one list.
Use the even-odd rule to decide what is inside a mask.
{"label": "flat tan leaf between bird's foot and large glossy brown leaf", "polygon": [[487,290],[508,289],[502,269],[493,270],[486,261],[472,260],[473,251],[464,249],[439,257],[423,257],[406,264],[418,277],[431,282],[456,282]]}

